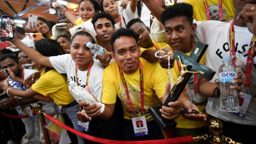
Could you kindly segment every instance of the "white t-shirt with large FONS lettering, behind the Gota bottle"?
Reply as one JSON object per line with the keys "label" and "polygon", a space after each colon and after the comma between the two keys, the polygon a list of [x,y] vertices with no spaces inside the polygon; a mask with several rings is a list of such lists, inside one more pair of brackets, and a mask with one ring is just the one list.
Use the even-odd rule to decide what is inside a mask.
{"label": "white t-shirt with large FONS lettering, behind the Gota bottle", "polygon": [[[228,35],[230,23],[223,23],[217,20],[203,22],[197,21],[196,23],[197,28],[193,39],[195,41],[209,44],[206,51],[205,65],[216,71],[216,74],[211,80],[211,82],[214,83],[214,80],[218,78],[218,69],[222,64],[222,57],[230,57]],[[247,53],[253,34],[248,31],[247,27],[234,26],[234,31],[235,47],[237,48],[237,72],[239,72],[244,78],[244,69],[246,66]],[[256,63],[255,57],[253,58],[253,63]],[[244,85],[242,85],[242,87],[242,91],[244,92]],[[206,111],[214,117],[232,123],[256,125],[256,69],[254,68],[254,66],[252,68],[251,88],[249,89],[249,93],[252,94],[252,98],[244,118],[232,113],[222,112],[220,109],[219,98],[208,98]]]}

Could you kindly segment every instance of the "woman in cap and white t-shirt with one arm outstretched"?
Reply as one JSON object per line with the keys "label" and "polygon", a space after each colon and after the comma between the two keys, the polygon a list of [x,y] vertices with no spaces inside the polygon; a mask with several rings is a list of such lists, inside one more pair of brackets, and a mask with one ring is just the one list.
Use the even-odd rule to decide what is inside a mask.
{"label": "woman in cap and white t-shirt with one arm outstretched", "polygon": [[[34,49],[29,48],[16,38],[12,41],[12,43],[30,57],[32,61],[45,67],[54,68],[59,73],[66,73],[68,82],[77,82],[77,85],[81,87],[88,85],[91,93],[101,102],[102,74],[104,67],[99,60],[93,58],[93,53],[91,53],[90,49],[86,46],[87,42],[96,43],[94,34],[85,28],[77,29],[71,37],[70,54],[46,57]],[[88,73],[90,66],[91,69]],[[120,117],[122,117],[121,115]],[[119,123],[117,118],[108,121],[94,118],[89,124],[88,134],[105,139],[118,139],[120,138],[116,136],[118,134],[112,134],[113,132],[111,131],[122,128],[122,125],[120,125],[120,127],[114,127],[115,123]],[[106,128],[107,126],[112,127],[112,129]],[[90,142],[86,141],[86,143]]]}

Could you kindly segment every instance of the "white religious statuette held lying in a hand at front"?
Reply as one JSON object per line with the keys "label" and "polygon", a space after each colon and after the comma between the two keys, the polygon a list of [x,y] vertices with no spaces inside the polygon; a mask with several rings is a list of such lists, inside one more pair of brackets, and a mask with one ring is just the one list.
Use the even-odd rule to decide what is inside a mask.
{"label": "white religious statuette held lying in a hand at front", "polygon": [[91,95],[85,88],[77,86],[74,81],[70,81],[69,85],[71,86],[70,93],[78,103],[88,101],[89,105],[93,105],[93,104],[97,104],[97,106],[101,105],[99,114],[101,114],[104,111],[105,105],[103,103],[96,102],[93,95]]}

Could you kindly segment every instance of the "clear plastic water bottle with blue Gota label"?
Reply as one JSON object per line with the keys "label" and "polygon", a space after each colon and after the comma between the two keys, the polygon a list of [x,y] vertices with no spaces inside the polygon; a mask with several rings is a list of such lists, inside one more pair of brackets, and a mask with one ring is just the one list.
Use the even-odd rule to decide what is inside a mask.
{"label": "clear plastic water bottle with blue Gota label", "polygon": [[230,86],[236,75],[236,68],[230,63],[230,57],[222,58],[222,65],[219,67],[219,87],[221,88],[221,97],[219,99],[221,110],[224,112],[239,112],[239,101],[237,91],[230,89]]}

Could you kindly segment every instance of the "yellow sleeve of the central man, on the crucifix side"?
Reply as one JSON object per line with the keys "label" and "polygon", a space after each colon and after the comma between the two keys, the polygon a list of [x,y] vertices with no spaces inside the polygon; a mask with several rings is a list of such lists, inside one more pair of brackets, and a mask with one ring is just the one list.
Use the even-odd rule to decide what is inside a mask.
{"label": "yellow sleeve of the central man, on the crucifix side", "polygon": [[153,89],[159,99],[165,94],[166,84],[168,82],[170,82],[168,74],[163,70],[159,63],[156,63],[152,72],[152,83],[154,84]]}

